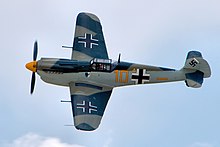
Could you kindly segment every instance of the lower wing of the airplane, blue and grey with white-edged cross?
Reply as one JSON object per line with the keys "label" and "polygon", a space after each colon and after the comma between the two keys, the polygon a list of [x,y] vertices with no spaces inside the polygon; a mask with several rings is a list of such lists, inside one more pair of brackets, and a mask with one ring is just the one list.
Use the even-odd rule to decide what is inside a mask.
{"label": "lower wing of the airplane, blue and grey with white-edged cross", "polygon": [[98,128],[112,88],[88,83],[71,83],[70,94],[76,129],[92,131]]}

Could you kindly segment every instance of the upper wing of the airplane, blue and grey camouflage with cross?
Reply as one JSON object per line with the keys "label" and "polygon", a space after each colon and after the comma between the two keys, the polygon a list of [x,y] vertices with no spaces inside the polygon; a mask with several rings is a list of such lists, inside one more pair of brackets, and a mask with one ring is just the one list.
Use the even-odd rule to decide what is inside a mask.
{"label": "upper wing of the airplane, blue and grey camouflage with cross", "polygon": [[94,57],[108,59],[102,26],[94,14],[80,13],[76,20],[72,59],[88,61]]}

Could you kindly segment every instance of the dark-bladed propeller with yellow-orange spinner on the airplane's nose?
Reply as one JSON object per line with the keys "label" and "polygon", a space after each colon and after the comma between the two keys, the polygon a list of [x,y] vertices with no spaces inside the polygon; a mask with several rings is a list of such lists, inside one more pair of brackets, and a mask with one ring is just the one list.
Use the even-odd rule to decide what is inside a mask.
{"label": "dark-bladed propeller with yellow-orange spinner on the airplane's nose", "polygon": [[37,41],[34,42],[34,51],[33,51],[33,61],[26,64],[26,68],[32,71],[31,76],[31,90],[30,93],[33,94],[34,92],[34,85],[35,85],[35,72],[37,72],[37,54],[38,54],[38,44]]}

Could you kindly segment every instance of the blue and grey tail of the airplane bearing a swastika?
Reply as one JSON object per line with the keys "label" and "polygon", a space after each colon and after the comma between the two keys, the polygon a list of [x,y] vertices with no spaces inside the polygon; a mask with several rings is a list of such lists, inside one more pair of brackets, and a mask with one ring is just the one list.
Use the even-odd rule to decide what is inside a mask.
{"label": "blue and grey tail of the airplane bearing a swastika", "polygon": [[190,51],[188,53],[182,71],[185,73],[186,85],[193,88],[201,87],[203,78],[211,76],[208,62],[203,59],[202,54],[198,51]]}

